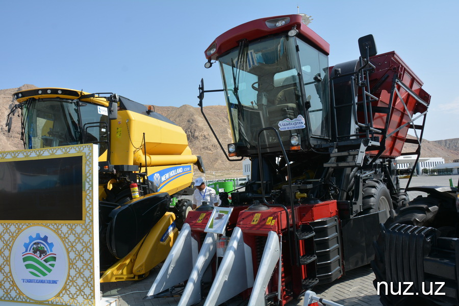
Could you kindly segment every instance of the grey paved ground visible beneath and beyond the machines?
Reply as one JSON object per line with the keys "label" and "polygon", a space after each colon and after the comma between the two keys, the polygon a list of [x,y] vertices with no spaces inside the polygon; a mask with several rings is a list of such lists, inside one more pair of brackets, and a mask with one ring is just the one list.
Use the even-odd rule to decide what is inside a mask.
{"label": "grey paved ground visible beneath and beyond the machines", "polygon": [[[452,179],[454,186],[457,185],[458,175],[448,176],[416,176],[413,177],[410,186],[449,186],[449,179]],[[407,179],[400,180],[401,188],[407,184]],[[423,195],[421,192],[409,192],[410,199],[418,195]],[[146,278],[137,282],[114,282],[100,284],[100,290],[104,297],[112,297],[118,300],[119,306],[126,305],[158,305],[158,306],[176,306],[180,297],[157,298],[152,300],[144,300],[143,297],[147,294],[153,284],[156,275],[160,270],[160,266],[155,267]],[[369,265],[350,270],[335,282],[330,284],[317,285],[313,291],[317,296],[324,299],[340,303],[342,305],[381,305],[376,290],[373,287],[374,274]],[[225,306],[246,305],[246,301],[232,300],[225,303]],[[288,306],[303,305],[303,298],[290,301]]]}

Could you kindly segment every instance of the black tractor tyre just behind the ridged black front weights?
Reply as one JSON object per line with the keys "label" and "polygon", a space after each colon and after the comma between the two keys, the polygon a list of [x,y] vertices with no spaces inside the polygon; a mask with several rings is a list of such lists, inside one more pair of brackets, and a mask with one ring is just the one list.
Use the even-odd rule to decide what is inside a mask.
{"label": "black tractor tyre just behind the ridged black front weights", "polygon": [[397,209],[392,223],[430,226],[438,213],[438,203],[438,199],[433,197],[417,197],[407,206]]}

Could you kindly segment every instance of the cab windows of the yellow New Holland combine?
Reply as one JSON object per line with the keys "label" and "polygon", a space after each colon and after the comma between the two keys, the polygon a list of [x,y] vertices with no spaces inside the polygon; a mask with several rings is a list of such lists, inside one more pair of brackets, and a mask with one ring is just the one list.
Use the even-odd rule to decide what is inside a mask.
{"label": "cab windows of the yellow New Holland combine", "polygon": [[[35,149],[105,141],[108,135],[107,112],[99,108],[92,104],[80,107],[83,121],[80,122],[78,106],[71,100],[30,99],[22,107],[24,143],[27,148]],[[98,144],[101,155],[107,149],[107,143]]]}

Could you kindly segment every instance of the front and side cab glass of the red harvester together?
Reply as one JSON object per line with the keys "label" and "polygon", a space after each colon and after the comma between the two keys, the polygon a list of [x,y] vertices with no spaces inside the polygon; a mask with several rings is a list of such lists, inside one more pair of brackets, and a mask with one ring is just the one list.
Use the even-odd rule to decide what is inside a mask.
{"label": "front and side cab glass of the red harvester together", "polygon": [[[238,145],[256,148],[264,127],[276,129],[284,146],[293,134],[305,139],[310,125],[312,135],[328,137],[328,110],[322,106],[328,100],[328,83],[322,82],[328,79],[327,57],[312,47],[315,54],[303,55],[302,45],[298,57],[296,45],[294,37],[269,37],[241,43],[218,59]],[[261,134],[260,144],[278,147],[275,133]]]}

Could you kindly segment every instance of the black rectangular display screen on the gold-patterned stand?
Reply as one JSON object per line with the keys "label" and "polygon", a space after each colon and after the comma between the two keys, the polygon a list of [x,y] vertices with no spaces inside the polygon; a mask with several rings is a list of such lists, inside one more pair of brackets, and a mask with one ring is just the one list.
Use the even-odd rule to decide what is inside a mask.
{"label": "black rectangular display screen on the gold-patterned stand", "polygon": [[83,156],[0,162],[0,222],[83,220]]}

